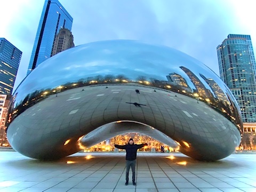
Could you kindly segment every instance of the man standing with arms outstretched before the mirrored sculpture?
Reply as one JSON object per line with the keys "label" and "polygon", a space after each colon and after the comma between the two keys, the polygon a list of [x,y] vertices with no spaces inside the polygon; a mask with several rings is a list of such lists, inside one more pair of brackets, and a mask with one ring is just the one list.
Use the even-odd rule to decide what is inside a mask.
{"label": "man standing with arms outstretched before the mirrored sculpture", "polygon": [[126,175],[125,175],[125,185],[127,186],[129,183],[129,171],[130,167],[132,167],[132,184],[135,186],[135,165],[136,165],[136,158],[137,158],[137,150],[147,146],[147,143],[144,144],[134,144],[133,139],[131,138],[127,145],[115,145],[118,149],[125,149],[126,150]]}

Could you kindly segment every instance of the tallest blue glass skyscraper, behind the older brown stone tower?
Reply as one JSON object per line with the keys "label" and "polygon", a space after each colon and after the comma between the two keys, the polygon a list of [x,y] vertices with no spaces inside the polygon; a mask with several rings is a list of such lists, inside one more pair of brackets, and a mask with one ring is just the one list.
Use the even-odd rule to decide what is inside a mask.
{"label": "tallest blue glass skyscraper, behind the older brown stone tower", "polygon": [[58,31],[61,28],[71,31],[72,23],[73,18],[58,0],[45,0],[27,74],[52,56]]}

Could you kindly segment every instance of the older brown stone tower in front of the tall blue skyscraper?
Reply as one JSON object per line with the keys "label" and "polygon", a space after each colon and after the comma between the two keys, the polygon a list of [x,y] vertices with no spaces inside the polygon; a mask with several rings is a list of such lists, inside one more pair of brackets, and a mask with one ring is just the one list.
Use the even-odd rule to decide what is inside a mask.
{"label": "older brown stone tower in front of the tall blue skyscraper", "polygon": [[71,31],[66,28],[62,28],[55,39],[52,56],[74,46],[74,37]]}

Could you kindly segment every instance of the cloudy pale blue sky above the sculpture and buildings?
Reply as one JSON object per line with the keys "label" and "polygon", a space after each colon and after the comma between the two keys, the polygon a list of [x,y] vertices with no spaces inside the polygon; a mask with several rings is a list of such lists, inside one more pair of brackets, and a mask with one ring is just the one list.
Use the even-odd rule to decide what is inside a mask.
{"label": "cloudy pale blue sky above the sculpture and buildings", "polygon": [[[73,17],[75,45],[135,39],[185,52],[219,75],[216,47],[228,34],[251,35],[255,0],[59,0]],[[14,89],[25,78],[44,0],[0,0],[0,37],[22,58]]]}

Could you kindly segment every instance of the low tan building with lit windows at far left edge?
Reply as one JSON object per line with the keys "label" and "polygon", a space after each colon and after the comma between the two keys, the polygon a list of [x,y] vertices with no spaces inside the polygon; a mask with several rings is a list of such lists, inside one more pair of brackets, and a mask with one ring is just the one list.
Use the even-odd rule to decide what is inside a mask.
{"label": "low tan building with lit windows at far left edge", "polygon": [[5,121],[9,107],[11,95],[0,94],[0,146],[10,147],[6,137]]}

